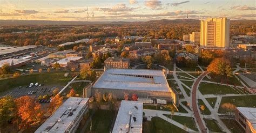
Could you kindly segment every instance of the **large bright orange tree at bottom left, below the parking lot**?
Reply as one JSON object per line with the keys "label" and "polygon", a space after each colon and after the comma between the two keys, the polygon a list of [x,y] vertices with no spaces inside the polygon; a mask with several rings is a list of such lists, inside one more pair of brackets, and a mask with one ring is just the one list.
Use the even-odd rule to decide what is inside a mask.
{"label": "large bright orange tree at bottom left, below the parking lot", "polygon": [[29,96],[23,96],[15,100],[18,114],[19,129],[26,129],[38,125],[43,118],[41,105],[35,103],[35,99]]}

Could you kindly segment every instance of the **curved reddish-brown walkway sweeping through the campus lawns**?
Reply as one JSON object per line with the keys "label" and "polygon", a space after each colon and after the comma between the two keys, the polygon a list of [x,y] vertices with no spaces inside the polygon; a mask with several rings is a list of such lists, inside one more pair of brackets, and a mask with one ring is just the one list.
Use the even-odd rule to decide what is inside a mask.
{"label": "curved reddish-brown walkway sweeping through the campus lawns", "polygon": [[193,112],[194,112],[194,116],[196,117],[197,123],[199,125],[200,131],[201,132],[207,132],[205,129],[205,125],[203,123],[203,120],[201,119],[199,112],[198,112],[198,108],[197,108],[197,88],[198,85],[200,83],[200,81],[205,77],[205,75],[207,75],[208,72],[204,72],[202,75],[200,75],[196,82],[194,83],[193,87],[192,87],[192,107],[193,107]]}

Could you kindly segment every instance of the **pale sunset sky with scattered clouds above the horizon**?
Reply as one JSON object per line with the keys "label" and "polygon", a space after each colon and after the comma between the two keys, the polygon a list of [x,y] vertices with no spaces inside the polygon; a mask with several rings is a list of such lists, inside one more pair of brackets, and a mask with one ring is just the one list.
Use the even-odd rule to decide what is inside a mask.
{"label": "pale sunset sky with scattered clouds above the horizon", "polygon": [[255,0],[0,0],[0,19],[147,21],[160,19],[256,20]]}

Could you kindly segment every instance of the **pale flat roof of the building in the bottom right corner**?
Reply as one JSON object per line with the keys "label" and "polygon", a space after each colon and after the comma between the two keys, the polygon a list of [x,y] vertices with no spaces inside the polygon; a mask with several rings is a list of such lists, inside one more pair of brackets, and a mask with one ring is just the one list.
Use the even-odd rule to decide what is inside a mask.
{"label": "pale flat roof of the building in the bottom right corner", "polygon": [[250,121],[253,128],[256,129],[256,108],[237,107],[237,109],[246,117],[248,121]]}

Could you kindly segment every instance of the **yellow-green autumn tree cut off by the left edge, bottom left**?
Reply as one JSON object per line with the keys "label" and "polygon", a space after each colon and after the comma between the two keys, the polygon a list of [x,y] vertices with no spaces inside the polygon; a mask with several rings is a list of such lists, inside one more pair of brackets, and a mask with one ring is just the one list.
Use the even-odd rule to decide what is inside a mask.
{"label": "yellow-green autumn tree cut off by the left edge, bottom left", "polygon": [[16,117],[17,108],[10,96],[0,99],[0,125],[4,125]]}

